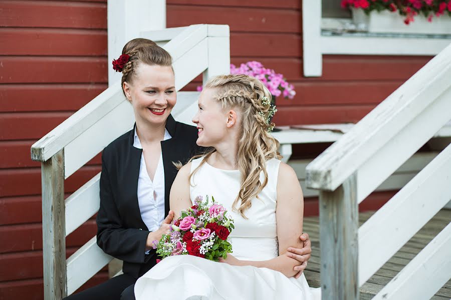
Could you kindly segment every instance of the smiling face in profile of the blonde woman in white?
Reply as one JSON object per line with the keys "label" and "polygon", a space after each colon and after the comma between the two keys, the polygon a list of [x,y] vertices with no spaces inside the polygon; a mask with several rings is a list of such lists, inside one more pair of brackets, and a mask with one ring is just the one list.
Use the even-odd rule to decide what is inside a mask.
{"label": "smiling face in profile of the blonde woman in white", "polygon": [[221,104],[213,99],[215,89],[203,89],[199,96],[198,110],[192,121],[197,125],[199,146],[215,146],[227,136],[229,113],[222,109]]}

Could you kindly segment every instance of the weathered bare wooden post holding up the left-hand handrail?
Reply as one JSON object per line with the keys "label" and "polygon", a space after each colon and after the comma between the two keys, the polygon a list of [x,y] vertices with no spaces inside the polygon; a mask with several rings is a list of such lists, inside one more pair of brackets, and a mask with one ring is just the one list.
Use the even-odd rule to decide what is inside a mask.
{"label": "weathered bare wooden post holding up the left-hand handrail", "polygon": [[41,165],[44,298],[60,300],[67,295],[64,149]]}

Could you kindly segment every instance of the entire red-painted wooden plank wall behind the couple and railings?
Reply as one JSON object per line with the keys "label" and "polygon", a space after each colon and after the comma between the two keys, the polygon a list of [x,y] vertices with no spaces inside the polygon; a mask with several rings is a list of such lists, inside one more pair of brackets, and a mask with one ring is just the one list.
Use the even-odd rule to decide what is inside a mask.
{"label": "entire red-painted wooden plank wall behind the couple and railings", "polygon": [[[326,55],[323,76],[304,78],[300,2],[167,0],[167,26],[230,24],[233,63],[259,60],[296,87],[295,99],[278,99],[279,125],[357,121],[430,58]],[[0,300],[43,298],[41,170],[30,146],[107,87],[106,27],[105,0],[0,2]],[[325,146],[294,154],[314,156]],[[97,156],[68,178],[66,192],[99,163]],[[361,208],[391,194],[375,193]],[[317,199],[305,203],[306,214],[317,213]],[[95,231],[91,219],[73,232],[68,254]],[[103,270],[86,286],[106,278]]]}

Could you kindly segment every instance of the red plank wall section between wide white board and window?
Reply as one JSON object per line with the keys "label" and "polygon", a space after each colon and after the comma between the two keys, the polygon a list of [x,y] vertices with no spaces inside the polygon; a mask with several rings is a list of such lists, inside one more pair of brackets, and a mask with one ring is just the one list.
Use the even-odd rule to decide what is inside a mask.
{"label": "red plank wall section between wide white board and window", "polygon": [[277,125],[357,122],[431,58],[324,55],[323,76],[305,78],[301,17],[300,1],[167,0],[168,27],[228,23],[232,63],[258,60],[293,83],[296,97],[277,99]]}

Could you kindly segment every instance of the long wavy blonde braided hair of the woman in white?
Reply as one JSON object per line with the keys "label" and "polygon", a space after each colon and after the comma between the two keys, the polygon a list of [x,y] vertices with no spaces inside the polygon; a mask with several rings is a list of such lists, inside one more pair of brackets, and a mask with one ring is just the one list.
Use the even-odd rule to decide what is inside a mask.
{"label": "long wavy blonde braided hair of the woman in white", "polygon": [[[233,208],[246,218],[244,211],[251,207],[252,199],[268,184],[266,161],[271,158],[282,158],[279,141],[269,132],[270,126],[266,116],[271,108],[272,95],[268,88],[259,79],[243,75],[219,75],[210,78],[204,88],[215,90],[214,99],[219,101],[223,109],[237,109],[241,112],[241,137],[238,141],[238,157],[236,167],[241,172],[240,192],[233,203]],[[205,154],[202,163],[214,152]],[[263,171],[265,179],[260,182],[260,173]],[[238,209],[237,206],[240,203]]]}

